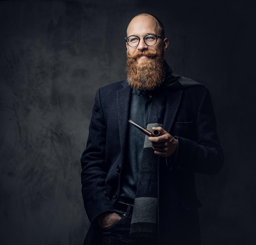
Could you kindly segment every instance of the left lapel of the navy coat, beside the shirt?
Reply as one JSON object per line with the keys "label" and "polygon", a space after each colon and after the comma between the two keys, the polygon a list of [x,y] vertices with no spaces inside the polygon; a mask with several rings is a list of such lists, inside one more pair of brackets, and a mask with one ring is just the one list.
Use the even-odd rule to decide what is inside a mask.
{"label": "left lapel of the navy coat, beside the shirt", "polygon": [[117,91],[117,118],[119,124],[119,136],[122,152],[124,153],[128,132],[129,108],[131,88],[127,80],[122,83],[123,88]]}

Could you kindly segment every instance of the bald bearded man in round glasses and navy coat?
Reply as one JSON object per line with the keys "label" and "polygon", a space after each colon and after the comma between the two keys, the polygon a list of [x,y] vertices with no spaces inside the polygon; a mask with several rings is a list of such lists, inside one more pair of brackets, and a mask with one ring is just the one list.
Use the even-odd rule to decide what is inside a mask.
{"label": "bald bearded man in round glasses and navy coat", "polygon": [[[127,79],[98,89],[81,157],[91,222],[84,244],[200,244],[195,173],[216,174],[223,154],[209,91],[166,64],[160,20],[128,25]],[[132,119],[160,136],[148,137]]]}

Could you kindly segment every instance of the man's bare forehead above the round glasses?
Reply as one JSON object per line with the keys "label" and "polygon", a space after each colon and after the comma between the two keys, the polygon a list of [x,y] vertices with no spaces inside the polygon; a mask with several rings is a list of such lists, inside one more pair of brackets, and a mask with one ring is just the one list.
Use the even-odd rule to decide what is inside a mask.
{"label": "man's bare forehead above the round glasses", "polygon": [[152,16],[136,16],[127,28],[127,36],[144,35],[148,33],[159,35],[157,21]]}

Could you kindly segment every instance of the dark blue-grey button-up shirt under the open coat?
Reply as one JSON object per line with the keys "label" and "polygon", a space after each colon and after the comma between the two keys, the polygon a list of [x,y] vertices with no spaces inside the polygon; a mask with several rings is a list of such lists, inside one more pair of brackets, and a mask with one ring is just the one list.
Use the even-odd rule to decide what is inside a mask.
{"label": "dark blue-grey button-up shirt under the open coat", "polygon": [[[130,119],[144,128],[147,127],[151,101],[146,91],[132,89]],[[124,203],[133,203],[135,199],[145,136],[134,125],[129,124],[128,155],[121,176],[120,200]]]}

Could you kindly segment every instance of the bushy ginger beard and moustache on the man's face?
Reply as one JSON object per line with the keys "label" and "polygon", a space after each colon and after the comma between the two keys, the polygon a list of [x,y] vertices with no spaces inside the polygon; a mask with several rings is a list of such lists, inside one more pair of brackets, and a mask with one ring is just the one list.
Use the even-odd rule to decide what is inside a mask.
{"label": "bushy ginger beard and moustache on the man's face", "polygon": [[[162,84],[165,77],[164,55],[156,51],[127,53],[126,74],[129,85],[136,89],[153,90]],[[137,57],[148,56],[138,63]]]}

